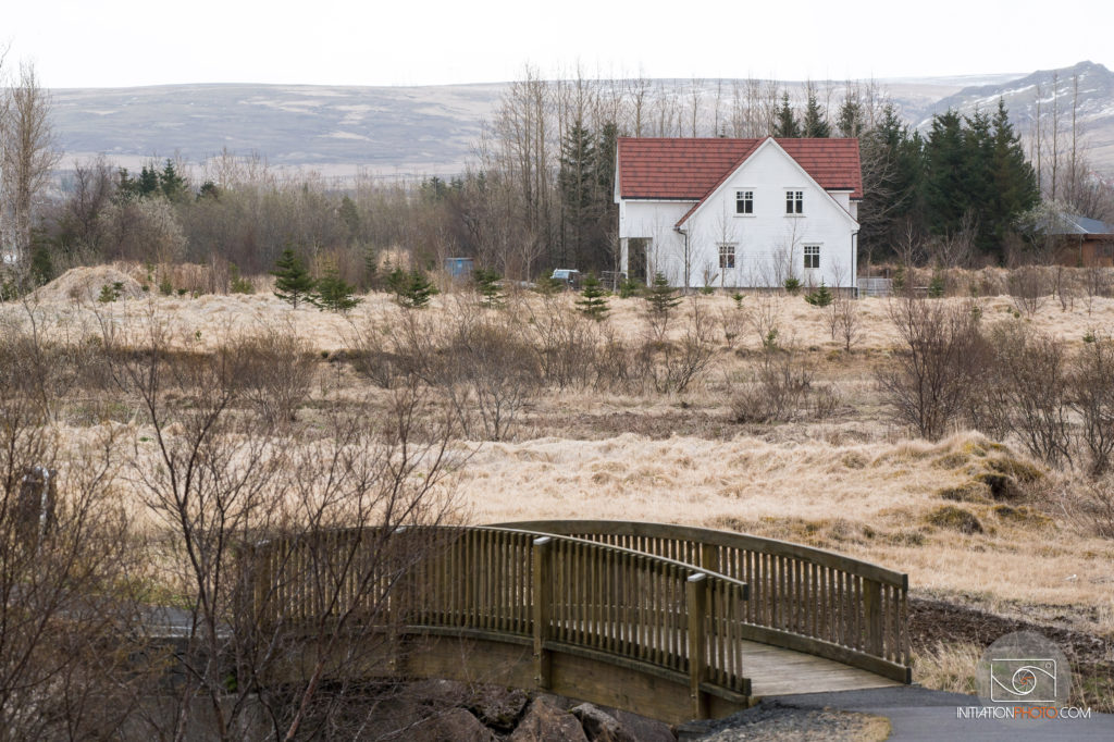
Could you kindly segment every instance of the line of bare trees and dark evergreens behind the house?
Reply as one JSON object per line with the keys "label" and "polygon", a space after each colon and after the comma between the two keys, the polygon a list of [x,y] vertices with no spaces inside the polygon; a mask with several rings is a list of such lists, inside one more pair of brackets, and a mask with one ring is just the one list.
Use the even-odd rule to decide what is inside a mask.
{"label": "line of bare trees and dark evergreens behind the house", "polygon": [[[617,270],[613,188],[622,136],[857,138],[867,264],[1032,260],[1020,217],[1039,211],[1042,196],[1092,214],[1106,203],[1095,195],[1101,187],[1081,185],[1092,182],[1081,175],[1078,127],[1069,147],[1053,146],[1067,141],[1058,109],[1055,126],[1047,115],[1037,119],[1040,136],[1059,131],[1053,144],[1038,136],[1034,147],[1030,138],[1027,155],[1001,101],[993,111],[940,114],[922,134],[873,81],[797,90],[755,79],[593,79],[582,70],[547,79],[529,67],[485,124],[475,166],[448,179],[363,176],[340,186],[281,176],[262,157],[223,152],[193,166],[152,159],[137,174],[105,158],[76,163],[60,195],[48,197],[47,176],[58,164],[49,96],[33,68],[20,75],[0,129],[8,133],[0,232],[32,266],[32,283],[111,260],[209,264],[217,283],[227,283],[234,273],[270,272],[287,250],[314,276],[334,271],[359,289],[395,267],[436,269],[456,256],[521,280],[554,267]],[[30,144],[21,149],[20,141]]]}

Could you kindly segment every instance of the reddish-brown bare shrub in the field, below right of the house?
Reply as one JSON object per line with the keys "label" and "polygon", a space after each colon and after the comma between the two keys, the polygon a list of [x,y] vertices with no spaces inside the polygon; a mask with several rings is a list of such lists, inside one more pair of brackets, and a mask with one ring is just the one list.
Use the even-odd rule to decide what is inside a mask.
{"label": "reddish-brown bare shrub in the field, below right of the house", "polygon": [[977,388],[984,357],[978,321],[965,307],[921,299],[895,300],[889,313],[899,345],[876,379],[897,418],[936,440]]}

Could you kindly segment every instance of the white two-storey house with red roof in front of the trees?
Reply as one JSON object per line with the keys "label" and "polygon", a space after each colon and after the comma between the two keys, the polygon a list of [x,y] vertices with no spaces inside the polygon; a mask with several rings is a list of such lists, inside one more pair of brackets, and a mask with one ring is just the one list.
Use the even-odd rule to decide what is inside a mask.
{"label": "white two-storey house with red roof in front of the trees", "polygon": [[854,287],[856,139],[618,141],[622,265],[672,285]]}

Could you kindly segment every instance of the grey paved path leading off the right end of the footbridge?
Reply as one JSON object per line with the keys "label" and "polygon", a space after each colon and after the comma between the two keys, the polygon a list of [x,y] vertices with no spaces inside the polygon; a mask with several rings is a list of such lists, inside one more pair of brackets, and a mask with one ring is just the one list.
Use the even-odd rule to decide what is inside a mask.
{"label": "grey paved path leading off the right end of the footbridge", "polygon": [[929,691],[919,685],[766,696],[762,703],[795,709],[861,711],[886,716],[893,730],[890,740],[895,742],[1114,740],[1114,714],[1092,712],[1091,719],[1012,724],[990,719],[957,719],[957,706],[980,705],[978,699],[959,693]]}

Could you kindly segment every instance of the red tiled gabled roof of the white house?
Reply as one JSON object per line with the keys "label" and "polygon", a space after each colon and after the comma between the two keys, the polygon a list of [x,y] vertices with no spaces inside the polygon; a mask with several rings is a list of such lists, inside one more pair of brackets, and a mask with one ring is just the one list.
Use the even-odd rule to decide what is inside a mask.
{"label": "red tiled gabled roof of the white house", "polygon": [[[763,141],[764,139],[623,137],[618,143],[619,196],[703,201]],[[775,141],[821,188],[850,191],[851,198],[862,198],[858,139]],[[695,208],[694,206],[688,214]]]}

